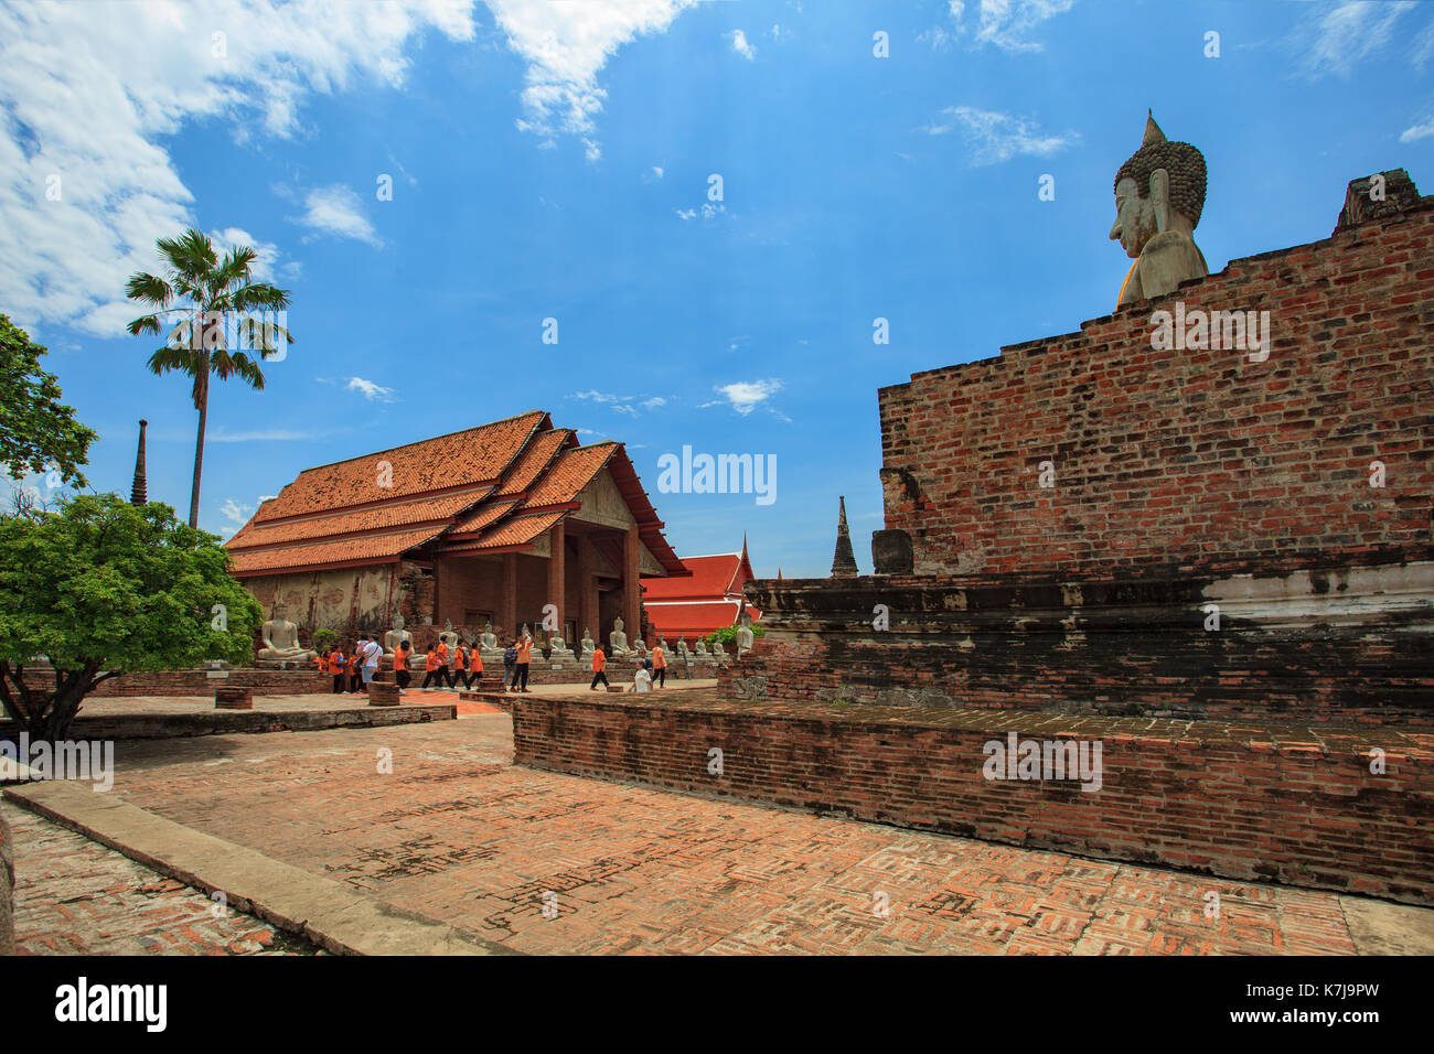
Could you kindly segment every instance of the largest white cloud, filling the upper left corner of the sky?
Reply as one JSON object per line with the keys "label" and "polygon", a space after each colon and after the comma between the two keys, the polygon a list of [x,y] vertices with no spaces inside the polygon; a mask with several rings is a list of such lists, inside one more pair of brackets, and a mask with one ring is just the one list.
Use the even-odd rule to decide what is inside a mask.
{"label": "largest white cloud, filling the upper left corner of the sky", "polygon": [[[7,313],[122,336],[136,314],[125,280],[155,270],[156,238],[195,225],[194,195],[171,159],[169,136],[199,119],[229,120],[241,139],[293,135],[313,93],[360,80],[402,85],[404,49],[423,30],[470,39],[469,7],[445,0],[0,4]],[[52,196],[59,189],[59,199],[47,189]]]}

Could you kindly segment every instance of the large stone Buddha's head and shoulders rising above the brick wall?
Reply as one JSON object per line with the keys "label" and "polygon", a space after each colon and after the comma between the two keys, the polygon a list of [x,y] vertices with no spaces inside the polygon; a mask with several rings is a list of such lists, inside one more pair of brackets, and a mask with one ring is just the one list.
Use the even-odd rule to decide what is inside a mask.
{"label": "large stone Buddha's head and shoulders rising above the brick wall", "polygon": [[1203,211],[1205,155],[1190,143],[1169,142],[1147,113],[1140,149],[1116,174],[1110,238],[1136,261],[1120,287],[1117,308],[1162,297],[1210,272],[1195,244]]}

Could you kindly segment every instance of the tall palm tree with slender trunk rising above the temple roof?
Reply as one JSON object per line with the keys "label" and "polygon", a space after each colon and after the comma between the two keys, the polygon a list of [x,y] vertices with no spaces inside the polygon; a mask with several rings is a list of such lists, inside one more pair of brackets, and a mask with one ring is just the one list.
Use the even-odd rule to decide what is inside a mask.
{"label": "tall palm tree with slender trunk rising above the temple roof", "polygon": [[[161,331],[174,321],[163,347],[149,356],[149,369],[156,374],[178,370],[194,379],[194,406],[199,412],[199,436],[194,446],[194,490],[189,493],[189,526],[199,526],[199,473],[204,467],[204,424],[209,413],[209,374],[219,380],[239,377],[250,387],[264,387],[261,359],[278,354],[278,337],[293,343],[282,326],[265,326],[254,317],[257,308],[282,310],[288,307],[288,290],[250,280],[250,270],[258,258],[248,245],[234,245],[219,260],[208,237],[195,229],[178,238],[155,242],[166,268],[163,277],[136,271],[125,285],[125,295],[148,304],[156,311],[141,315],[129,324],[133,336]],[[175,315],[161,323],[161,315]],[[227,347],[227,314],[238,315],[239,347]],[[258,350],[258,357],[252,354]]]}

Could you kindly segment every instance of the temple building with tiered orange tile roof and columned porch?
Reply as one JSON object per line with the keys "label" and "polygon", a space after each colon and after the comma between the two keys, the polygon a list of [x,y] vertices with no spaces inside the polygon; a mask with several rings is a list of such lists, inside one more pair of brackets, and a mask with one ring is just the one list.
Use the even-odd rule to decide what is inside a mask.
{"label": "temple building with tiered orange tile roof and columned porch", "polygon": [[528,413],[305,469],[228,542],[234,574],[300,627],[402,617],[542,641],[642,624],[640,579],[688,572],[621,443]]}

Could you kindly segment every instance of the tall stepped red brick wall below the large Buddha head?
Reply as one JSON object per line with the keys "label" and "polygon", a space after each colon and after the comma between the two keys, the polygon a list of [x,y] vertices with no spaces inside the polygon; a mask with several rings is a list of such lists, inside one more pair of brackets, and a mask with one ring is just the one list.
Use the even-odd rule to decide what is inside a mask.
{"label": "tall stepped red brick wall below the large Buddha head", "polygon": [[[1269,311],[1266,361],[1152,313]],[[1434,198],[879,393],[916,572],[1302,566],[1431,551]],[[1051,462],[1054,486],[1040,486]],[[1369,486],[1369,465],[1385,486]]]}

